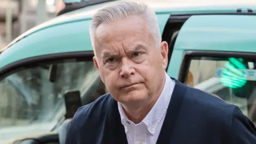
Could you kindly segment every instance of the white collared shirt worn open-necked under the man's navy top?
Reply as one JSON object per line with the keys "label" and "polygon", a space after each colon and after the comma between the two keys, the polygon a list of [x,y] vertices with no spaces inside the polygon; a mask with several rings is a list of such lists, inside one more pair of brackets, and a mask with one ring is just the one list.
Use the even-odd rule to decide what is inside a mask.
{"label": "white collared shirt worn open-necked under the man's navy top", "polygon": [[139,124],[134,124],[127,118],[121,104],[118,102],[121,122],[124,125],[129,144],[156,143],[175,85],[175,82],[166,73],[165,77],[166,81],[161,95],[147,116]]}

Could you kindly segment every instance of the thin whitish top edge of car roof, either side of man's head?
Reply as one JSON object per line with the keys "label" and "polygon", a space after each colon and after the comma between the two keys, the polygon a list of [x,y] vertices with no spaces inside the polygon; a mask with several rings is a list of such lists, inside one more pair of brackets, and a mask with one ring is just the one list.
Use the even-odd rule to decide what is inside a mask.
{"label": "thin whitish top edge of car roof, either side of man's head", "polygon": [[[150,7],[152,7],[157,14],[161,13],[171,13],[171,14],[189,14],[189,13],[204,13],[204,12],[236,12],[234,10],[243,7],[250,7],[253,10],[256,10],[256,1],[251,0],[215,0],[215,1],[205,1],[205,0],[139,0],[141,2],[147,3]],[[72,12],[65,13],[42,23],[34,28],[29,29],[25,33],[21,34],[19,37],[15,38],[10,44],[0,49],[0,52],[10,47],[15,42],[19,41],[21,38],[26,37],[27,35],[36,33],[38,30],[42,30],[47,27],[52,27],[56,25],[61,25],[62,23],[73,22],[77,20],[85,20],[91,19],[93,14],[100,9],[102,6],[106,4],[114,3],[106,2],[100,3],[96,5],[90,5],[87,7],[83,7],[82,9],[78,9]]]}

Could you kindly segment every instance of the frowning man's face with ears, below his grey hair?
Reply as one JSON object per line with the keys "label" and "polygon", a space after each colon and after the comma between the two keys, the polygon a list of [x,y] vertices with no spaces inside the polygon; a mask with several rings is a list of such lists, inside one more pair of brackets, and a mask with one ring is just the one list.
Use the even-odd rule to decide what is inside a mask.
{"label": "frowning man's face with ears, below his grey hair", "polygon": [[162,92],[167,47],[157,47],[146,21],[131,15],[97,28],[93,60],[116,101],[143,102]]}

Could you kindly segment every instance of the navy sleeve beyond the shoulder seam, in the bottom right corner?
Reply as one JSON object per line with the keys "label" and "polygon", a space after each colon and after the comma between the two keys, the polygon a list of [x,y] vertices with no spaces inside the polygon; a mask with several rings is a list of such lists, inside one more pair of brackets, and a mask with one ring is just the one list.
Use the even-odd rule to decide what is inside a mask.
{"label": "navy sleeve beyond the shoulder seam, in the bottom right corner", "polygon": [[231,143],[256,143],[256,128],[252,121],[236,107],[231,124]]}

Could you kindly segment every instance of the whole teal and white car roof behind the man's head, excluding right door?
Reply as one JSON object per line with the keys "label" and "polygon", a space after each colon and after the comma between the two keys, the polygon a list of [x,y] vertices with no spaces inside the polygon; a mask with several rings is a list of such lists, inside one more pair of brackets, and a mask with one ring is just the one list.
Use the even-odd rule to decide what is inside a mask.
{"label": "whole teal and white car roof behind the man's head, excluding right door", "polygon": [[[231,1],[234,2],[234,0]],[[252,1],[242,0],[243,4],[241,1],[241,3],[237,2],[235,4],[231,4],[231,1],[221,4],[214,4],[213,2],[204,3],[203,1],[200,4],[184,4],[174,2],[170,3],[167,1],[162,1],[156,4],[153,3],[153,0],[151,0],[147,1],[146,3],[148,3],[148,5],[155,10],[158,19],[158,26],[161,30],[161,33],[163,33],[163,29],[170,17],[170,14],[236,13],[236,10],[241,8],[241,5],[243,5],[243,7],[250,7],[251,9],[256,10],[256,4]],[[15,38],[14,41],[12,41],[9,45],[4,47],[2,54],[0,54],[0,68],[14,61],[37,57],[39,55],[77,51],[92,51],[89,35],[89,27],[92,15],[98,9],[100,9],[100,7],[107,3],[113,2],[91,5],[82,9],[65,13],[26,31],[19,37]],[[59,40],[60,38],[61,41]],[[44,40],[44,43],[42,43],[43,41],[41,40]],[[61,44],[63,47],[60,49],[53,49],[51,47],[58,47],[58,45]]]}

